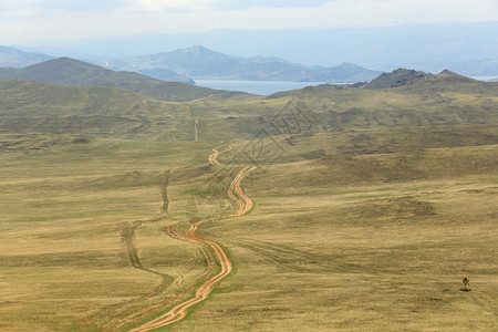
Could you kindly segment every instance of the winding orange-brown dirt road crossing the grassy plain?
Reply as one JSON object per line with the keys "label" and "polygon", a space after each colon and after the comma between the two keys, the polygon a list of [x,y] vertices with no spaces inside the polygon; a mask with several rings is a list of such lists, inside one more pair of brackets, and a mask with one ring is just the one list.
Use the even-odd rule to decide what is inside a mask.
{"label": "winding orange-brown dirt road crossing the grassy plain", "polygon": [[[228,149],[230,149],[230,148],[231,148],[231,145],[229,146]],[[228,149],[226,149],[226,151],[228,151]],[[222,151],[222,152],[226,152],[226,151]],[[214,148],[214,152],[215,153],[212,155],[215,155],[215,156],[212,157],[212,160],[215,162],[215,164],[220,165],[219,163],[217,163],[216,157],[221,152],[218,152],[215,148]],[[209,162],[211,160],[211,156],[209,156]],[[232,200],[237,201],[237,209],[231,216],[243,216],[252,208],[253,203],[243,193],[240,184],[241,184],[242,179],[246,177],[246,175],[255,169],[256,169],[256,166],[250,167],[250,168],[249,168],[249,166],[243,167],[242,169],[239,170],[239,173],[236,175],[236,177],[230,183],[227,194]],[[194,298],[190,298],[188,300],[185,300],[185,301],[178,303],[173,309],[170,309],[168,312],[155,318],[154,320],[151,320],[151,321],[144,323],[141,326],[134,328],[129,331],[145,332],[145,331],[151,331],[154,329],[163,328],[163,326],[166,326],[172,323],[180,321],[181,319],[184,319],[186,317],[187,310],[190,307],[204,301],[211,293],[214,288],[225,277],[227,277],[231,272],[234,266],[232,266],[230,259],[228,258],[227,253],[224,251],[224,249],[218,243],[216,243],[211,240],[205,239],[205,238],[198,236],[196,232],[197,228],[200,225],[203,225],[206,221],[210,221],[210,220],[211,220],[211,218],[207,218],[207,219],[203,219],[200,221],[193,224],[190,226],[190,228],[186,231],[186,236],[187,236],[187,238],[196,241],[199,245],[199,247],[201,248],[205,256],[207,255],[207,252],[206,252],[207,248],[212,249],[212,251],[215,252],[216,258],[219,262],[219,266],[221,267],[220,271],[218,273],[216,273],[214,277],[211,277],[209,280],[207,280],[203,284],[200,284],[199,288],[196,290]],[[172,231],[172,229],[169,229],[169,231]],[[206,258],[207,258],[207,256],[206,256]]]}

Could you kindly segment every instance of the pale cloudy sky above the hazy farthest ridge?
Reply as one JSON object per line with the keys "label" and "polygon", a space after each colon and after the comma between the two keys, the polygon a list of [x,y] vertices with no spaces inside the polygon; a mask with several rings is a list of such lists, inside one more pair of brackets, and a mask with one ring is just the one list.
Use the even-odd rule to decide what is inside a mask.
{"label": "pale cloudy sky above the hazy farthest ridge", "polygon": [[214,29],[496,21],[497,0],[0,0],[0,44]]}

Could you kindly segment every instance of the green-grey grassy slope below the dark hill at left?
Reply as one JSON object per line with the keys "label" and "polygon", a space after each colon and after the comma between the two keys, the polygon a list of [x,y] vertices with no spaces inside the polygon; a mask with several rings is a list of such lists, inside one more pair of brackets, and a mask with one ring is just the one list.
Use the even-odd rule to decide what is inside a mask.
{"label": "green-grey grassy slope below the dark hill at left", "polygon": [[0,80],[0,95],[3,129],[163,141],[194,135],[185,106],[123,90]]}

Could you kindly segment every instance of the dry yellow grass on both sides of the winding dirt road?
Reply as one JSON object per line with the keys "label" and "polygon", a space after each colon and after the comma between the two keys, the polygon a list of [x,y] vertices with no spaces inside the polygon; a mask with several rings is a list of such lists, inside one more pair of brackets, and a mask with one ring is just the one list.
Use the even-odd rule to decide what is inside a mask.
{"label": "dry yellow grass on both sides of the winding dirt road", "polygon": [[[496,330],[498,146],[300,157],[326,135],[245,179],[250,214],[203,226],[236,272],[169,329]],[[188,295],[206,262],[163,229],[187,227],[193,189],[217,174],[212,146],[97,139],[2,155],[0,329],[122,330]],[[133,268],[126,230],[156,273]]]}

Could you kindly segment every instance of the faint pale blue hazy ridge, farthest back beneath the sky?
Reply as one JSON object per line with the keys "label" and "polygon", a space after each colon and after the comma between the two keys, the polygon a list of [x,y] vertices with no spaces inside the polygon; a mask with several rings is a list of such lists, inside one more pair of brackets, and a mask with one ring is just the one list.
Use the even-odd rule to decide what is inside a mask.
{"label": "faint pale blue hazy ridge, farthest back beneath the sky", "polygon": [[97,54],[133,59],[188,45],[204,45],[242,58],[284,58],[291,63],[323,66],[351,62],[390,72],[409,68],[452,70],[471,76],[498,75],[498,22],[406,24],[377,28],[214,30],[201,33],[142,33],[93,38],[22,48],[50,54]]}

